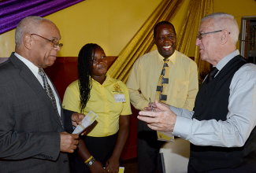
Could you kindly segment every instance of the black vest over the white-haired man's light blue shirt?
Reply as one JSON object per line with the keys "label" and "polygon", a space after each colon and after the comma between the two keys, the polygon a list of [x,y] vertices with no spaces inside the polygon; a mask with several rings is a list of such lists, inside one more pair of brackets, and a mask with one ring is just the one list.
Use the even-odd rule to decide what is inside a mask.
{"label": "black vest over the white-haired man's light blue shirt", "polygon": [[[195,98],[196,120],[227,120],[229,86],[236,71],[247,61],[236,56],[210,82],[207,79]],[[209,76],[208,76],[209,77]],[[207,77],[207,78],[208,78]],[[243,108],[241,108],[243,109]],[[235,168],[256,161],[256,128],[243,147],[217,147],[191,144],[189,164],[198,172]]]}

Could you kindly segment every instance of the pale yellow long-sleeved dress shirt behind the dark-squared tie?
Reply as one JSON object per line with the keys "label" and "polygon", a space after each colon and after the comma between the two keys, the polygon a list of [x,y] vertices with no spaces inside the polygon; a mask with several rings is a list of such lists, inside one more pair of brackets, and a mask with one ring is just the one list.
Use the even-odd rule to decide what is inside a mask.
{"label": "pale yellow long-sleeved dress shirt behind the dark-squared tie", "polygon": [[[154,50],[135,61],[126,83],[131,103],[135,109],[143,110],[154,101],[158,79],[164,65],[164,57]],[[166,104],[192,110],[198,93],[198,71],[195,61],[175,50],[169,57],[169,84]]]}

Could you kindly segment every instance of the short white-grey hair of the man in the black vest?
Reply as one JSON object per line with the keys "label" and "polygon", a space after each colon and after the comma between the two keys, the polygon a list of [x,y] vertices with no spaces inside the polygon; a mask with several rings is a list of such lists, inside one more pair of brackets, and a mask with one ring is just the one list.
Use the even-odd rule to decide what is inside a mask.
{"label": "short white-grey hair of the man in the black vest", "polygon": [[235,17],[228,13],[211,13],[206,17],[203,17],[202,21],[206,19],[212,19],[215,30],[226,29],[230,32],[230,39],[236,45],[239,38],[239,27]]}

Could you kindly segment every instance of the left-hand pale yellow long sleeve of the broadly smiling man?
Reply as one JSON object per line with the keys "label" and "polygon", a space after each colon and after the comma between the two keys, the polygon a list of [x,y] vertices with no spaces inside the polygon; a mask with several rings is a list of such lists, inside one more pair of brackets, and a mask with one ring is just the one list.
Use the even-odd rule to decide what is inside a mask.
{"label": "left-hand pale yellow long sleeve of the broadly smiling man", "polygon": [[135,109],[144,110],[149,104],[149,101],[147,101],[142,94],[139,94],[139,81],[141,80],[139,73],[139,60],[137,60],[132,67],[132,72],[128,78],[126,86],[128,87],[131,103]]}

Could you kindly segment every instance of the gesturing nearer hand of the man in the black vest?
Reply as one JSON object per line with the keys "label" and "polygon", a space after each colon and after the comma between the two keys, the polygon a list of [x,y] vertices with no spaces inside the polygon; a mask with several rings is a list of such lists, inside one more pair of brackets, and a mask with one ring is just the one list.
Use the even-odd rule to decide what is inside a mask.
{"label": "gesturing nearer hand of the man in the black vest", "polygon": [[[155,131],[173,131],[176,123],[176,114],[169,106],[154,101],[156,112],[140,111],[138,119],[147,122],[147,126]],[[150,117],[147,117],[150,116]]]}

